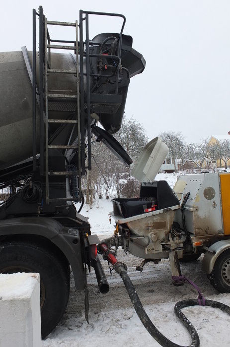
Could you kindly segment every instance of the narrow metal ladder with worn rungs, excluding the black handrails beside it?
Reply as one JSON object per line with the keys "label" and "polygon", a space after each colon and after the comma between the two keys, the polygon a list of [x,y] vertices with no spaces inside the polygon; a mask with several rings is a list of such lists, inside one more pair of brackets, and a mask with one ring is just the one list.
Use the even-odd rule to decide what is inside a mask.
{"label": "narrow metal ladder with worn rungs, excluding the black handrails beside it", "polygon": [[[59,26],[68,26],[68,27],[74,27],[75,28],[75,33],[76,33],[76,41],[61,41],[61,40],[51,40],[49,36],[49,31],[48,31],[48,25],[59,25]],[[80,184],[80,151],[78,151],[78,163],[76,167],[78,168],[78,172],[73,172],[73,171],[58,171],[58,172],[53,172],[49,170],[49,153],[51,149],[63,149],[63,150],[68,150],[68,149],[80,149],[80,111],[79,111],[79,67],[78,67],[78,58],[76,58],[76,70],[66,70],[66,69],[53,69],[51,68],[51,49],[63,49],[63,50],[73,50],[76,53],[76,56],[78,57],[78,28],[77,28],[77,21],[75,23],[67,23],[67,22],[57,22],[57,21],[48,21],[47,18],[44,18],[44,61],[45,61],[45,145],[46,145],[46,201],[59,201],[59,200],[67,200],[64,198],[55,198],[51,199],[49,197],[49,176],[50,175],[78,175],[79,177],[79,184]],[[62,43],[62,45],[61,45]],[[64,45],[63,45],[64,43]],[[70,45],[70,44],[74,44]],[[49,90],[48,86],[48,74],[73,74],[76,76],[76,90],[74,91],[75,94],[71,90],[64,90],[64,91],[59,91],[58,93],[56,91],[51,91]],[[52,100],[58,100],[60,101],[71,101],[76,103],[76,118],[75,119],[50,119],[48,115],[49,111],[49,104],[52,102]],[[56,124],[70,124],[72,125],[72,134],[74,131],[74,128],[77,126],[77,144],[71,144],[71,138],[69,139],[68,144],[56,144],[56,145],[49,145],[49,134],[48,134],[48,129],[49,129],[49,124],[51,123],[56,123]],[[73,141],[73,140],[72,140]],[[80,191],[80,186],[79,186],[79,191]],[[79,199],[81,199],[80,194],[79,194]],[[78,201],[78,198],[71,198],[72,201]]]}

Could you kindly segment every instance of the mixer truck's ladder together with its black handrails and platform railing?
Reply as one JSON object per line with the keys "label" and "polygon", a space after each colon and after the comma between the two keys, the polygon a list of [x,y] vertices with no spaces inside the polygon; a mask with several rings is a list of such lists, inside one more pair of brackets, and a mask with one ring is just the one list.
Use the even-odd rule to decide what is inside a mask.
{"label": "mixer truck's ladder together with its black handrails and platform railing", "polygon": [[[36,92],[36,24],[35,17],[39,16],[39,92]],[[83,17],[84,15],[84,17]],[[115,16],[122,17],[123,24],[119,34],[119,45],[117,50],[117,56],[111,55],[110,58],[116,61],[116,69],[111,75],[106,75],[98,71],[98,73],[90,72],[90,59],[98,58],[103,60],[103,54],[91,54],[90,45],[100,46],[101,43],[89,41],[89,15],[102,15],[102,16]],[[84,25],[84,36],[83,41],[83,23]],[[76,41],[70,40],[51,40],[48,26],[58,25],[63,27],[74,27]],[[105,12],[91,12],[82,11],[79,12],[79,25],[77,21],[75,23],[68,22],[57,22],[48,21],[43,15],[43,8],[39,6],[39,13],[35,10],[33,12],[33,124],[36,126],[36,107],[35,99],[37,94],[39,95],[39,112],[40,112],[40,175],[46,175],[46,201],[81,201],[81,175],[85,175],[85,169],[91,170],[91,105],[104,105],[110,104],[119,107],[121,104],[121,95],[118,95],[118,83],[119,73],[121,70],[121,45],[122,45],[122,33],[125,25],[125,17],[121,14],[105,13]],[[79,27],[79,41],[78,41],[78,27]],[[76,69],[56,69],[52,67],[51,50],[73,50],[76,55]],[[79,57],[79,60],[78,60]],[[84,67],[85,66],[85,67]],[[75,90],[51,90],[49,89],[49,76],[51,74],[73,74],[76,76],[76,88]],[[90,90],[90,78],[108,78],[115,77],[115,92],[114,94],[100,94],[97,93],[93,88]],[[54,119],[50,117],[50,105],[55,102],[64,102],[66,105],[75,103],[76,106],[76,117],[69,119],[68,117],[62,117],[63,119]],[[87,116],[85,115],[85,109],[87,109]],[[52,110],[52,109],[51,109]],[[62,110],[63,111],[63,110]],[[68,114],[68,113],[67,113]],[[86,117],[85,117],[86,116]],[[76,131],[77,127],[77,139],[73,142],[72,134],[69,142],[66,144],[61,143],[49,143],[49,126],[52,124],[72,126],[72,134]],[[44,133],[45,129],[45,133]],[[85,131],[87,132],[87,146],[85,146]],[[34,134],[36,131],[34,130]],[[45,145],[45,148],[44,148]],[[33,145],[33,170],[36,165],[36,141],[34,140]],[[87,147],[87,156],[85,148]],[[78,150],[76,171],[52,171],[49,169],[49,158],[50,151],[53,149],[65,150],[76,149]],[[44,156],[45,152],[45,156]],[[66,153],[66,152],[65,152]],[[87,158],[87,166],[85,161]],[[45,162],[45,163],[44,163]],[[45,169],[45,170],[44,170]],[[78,177],[78,188],[79,188],[79,199],[78,198],[50,198],[49,196],[49,177],[50,176],[70,176],[77,175]]]}

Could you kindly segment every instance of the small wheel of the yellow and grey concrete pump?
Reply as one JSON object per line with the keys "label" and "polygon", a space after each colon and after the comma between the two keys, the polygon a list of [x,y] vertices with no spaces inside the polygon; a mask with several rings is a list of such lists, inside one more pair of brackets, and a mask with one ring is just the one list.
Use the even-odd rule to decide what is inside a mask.
{"label": "small wheel of the yellow and grey concrete pump", "polygon": [[213,271],[208,275],[212,286],[221,293],[230,292],[230,250],[221,253],[217,258]]}

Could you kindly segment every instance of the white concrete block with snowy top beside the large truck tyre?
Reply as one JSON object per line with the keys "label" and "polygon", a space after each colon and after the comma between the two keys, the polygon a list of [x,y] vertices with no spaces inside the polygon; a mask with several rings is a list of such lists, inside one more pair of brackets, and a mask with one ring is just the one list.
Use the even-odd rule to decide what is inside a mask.
{"label": "white concrete block with snowy top beside the large truck tyre", "polygon": [[39,274],[0,274],[0,347],[41,346]]}

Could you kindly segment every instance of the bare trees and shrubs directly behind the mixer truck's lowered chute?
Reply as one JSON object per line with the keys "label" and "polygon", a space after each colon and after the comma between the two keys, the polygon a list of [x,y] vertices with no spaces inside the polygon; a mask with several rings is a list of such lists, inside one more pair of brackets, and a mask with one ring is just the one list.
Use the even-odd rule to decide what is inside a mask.
{"label": "bare trees and shrubs directly behind the mixer truck's lowered chute", "polygon": [[[142,124],[133,117],[128,118],[127,116],[124,116],[122,127],[114,137],[134,162],[137,161],[148,142]],[[92,138],[91,149],[92,170],[87,173],[87,177],[84,180],[86,203],[91,205],[93,201],[101,198],[103,194],[105,194],[106,198],[120,197],[122,194],[121,190],[124,191],[124,184],[122,185],[121,183],[122,178],[124,178],[124,173],[126,177],[130,176],[129,168],[121,163],[102,142],[97,142],[96,138]],[[129,180],[129,186],[132,183]],[[133,194],[136,194],[135,189],[133,189]]]}

